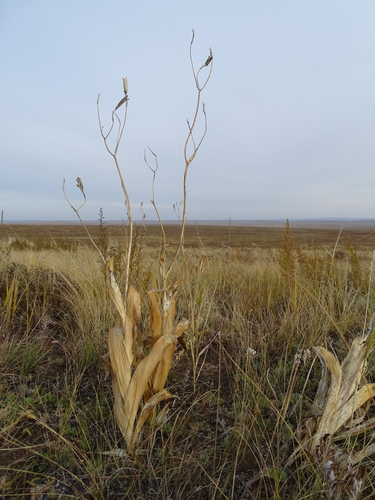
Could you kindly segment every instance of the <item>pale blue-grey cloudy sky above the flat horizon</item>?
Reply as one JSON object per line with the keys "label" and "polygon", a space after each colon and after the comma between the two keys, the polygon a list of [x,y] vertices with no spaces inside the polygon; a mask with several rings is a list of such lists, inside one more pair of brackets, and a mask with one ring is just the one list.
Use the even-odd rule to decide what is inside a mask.
{"label": "pale blue-grey cloudy sky above the flat horizon", "polygon": [[[176,218],[196,107],[192,29],[194,67],[210,47],[213,65],[187,219],[375,217],[374,21],[373,0],[1,0],[4,221],[76,220],[62,191],[65,178],[78,207],[76,177],[83,219],[100,207],[107,220],[126,218],[96,109],[100,93],[108,131],[125,76],[117,158],[133,217],[156,218],[150,147],[155,203]],[[196,142],[203,129],[200,109]]]}

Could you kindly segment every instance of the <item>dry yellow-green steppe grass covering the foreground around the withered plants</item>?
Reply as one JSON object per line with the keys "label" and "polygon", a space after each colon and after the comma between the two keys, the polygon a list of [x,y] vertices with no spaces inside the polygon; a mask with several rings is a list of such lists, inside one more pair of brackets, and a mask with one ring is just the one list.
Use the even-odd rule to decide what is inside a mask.
{"label": "dry yellow-green steppe grass covering the foreground around the withered plants", "polygon": [[[156,240],[147,244],[147,231],[135,238],[131,268],[142,296],[159,285],[158,247]],[[102,361],[116,314],[96,253],[80,243],[61,249],[53,234],[49,247],[40,239],[25,244],[30,235],[3,238],[3,496],[329,497],[317,463],[286,465],[320,378],[318,361],[303,363],[301,352],[323,346],[342,360],[366,329],[374,304],[373,252],[369,239],[352,238],[354,246],[341,234],[335,246],[334,231],[311,231],[318,244],[308,247],[304,236],[302,249],[292,239],[298,230],[284,228],[276,237],[271,231],[273,240],[265,231],[256,245],[245,246],[232,228],[231,249],[224,246],[227,228],[215,236],[207,230],[209,245],[204,227],[185,238],[185,257],[170,279],[184,279],[177,315],[188,317],[190,327],[186,351],[178,349],[166,382],[180,399],[169,419],[144,429],[133,456],[118,451],[123,441]],[[125,246],[119,240],[111,251],[119,257]],[[116,272],[120,277],[120,258]],[[143,305],[141,325],[147,314]],[[374,381],[372,355],[366,376]],[[336,445],[355,456],[371,445],[371,432]],[[371,498],[373,455],[361,464],[366,473],[357,498]],[[342,490],[355,476],[346,472],[336,470]]]}

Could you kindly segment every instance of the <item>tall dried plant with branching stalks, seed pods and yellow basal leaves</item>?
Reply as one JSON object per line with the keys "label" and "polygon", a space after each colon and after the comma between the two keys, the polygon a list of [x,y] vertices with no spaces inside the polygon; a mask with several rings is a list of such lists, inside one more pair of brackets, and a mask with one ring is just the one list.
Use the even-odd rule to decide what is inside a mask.
{"label": "tall dried plant with branching stalks, seed pods and yellow basal leaves", "polygon": [[[117,151],[120,144],[120,140],[122,137],[126,114],[127,114],[127,105],[128,105],[128,85],[127,78],[123,78],[123,91],[125,96],[120,99],[118,104],[116,105],[114,111],[112,112],[112,123],[109,128],[109,131],[104,134],[103,126],[100,121],[100,113],[99,113],[99,96],[97,98],[97,115],[100,127],[100,133],[103,138],[105,147],[109,154],[113,157],[115,162],[117,172],[121,181],[121,187],[125,196],[125,206],[127,210],[127,217],[129,220],[129,241],[128,241],[128,250],[127,256],[124,258],[126,263],[125,270],[125,283],[124,283],[124,295],[122,295],[118,284],[116,282],[114,273],[113,273],[113,258],[106,263],[103,254],[100,249],[94,243],[92,238],[90,237],[88,230],[86,228],[87,234],[91,240],[91,243],[95,246],[98,251],[101,260],[104,262],[106,267],[106,284],[109,290],[110,298],[114,303],[117,312],[118,319],[116,324],[111,328],[108,332],[108,348],[109,348],[109,369],[112,376],[112,390],[114,396],[114,413],[118,423],[118,426],[124,435],[126,441],[126,447],[128,453],[133,452],[134,446],[137,441],[137,437],[139,432],[147,419],[148,416],[155,417],[155,408],[161,402],[164,401],[165,405],[163,409],[158,414],[157,421],[162,421],[165,417],[169,401],[172,398],[177,396],[173,395],[171,392],[164,389],[164,384],[166,377],[168,375],[170,365],[172,362],[173,354],[175,351],[177,340],[184,333],[186,328],[188,327],[189,321],[185,318],[174,325],[174,316],[176,312],[175,301],[176,294],[178,290],[178,286],[181,280],[171,283],[170,285],[166,285],[167,276],[175,262],[175,259],[181,249],[183,243],[183,233],[185,226],[185,217],[186,217],[186,175],[187,169],[205,136],[206,133],[206,116],[204,110],[203,103],[203,114],[205,121],[204,133],[196,145],[193,139],[193,129],[195,127],[195,123],[197,120],[199,103],[200,103],[200,93],[208,82],[209,76],[212,70],[212,51],[209,50],[209,57],[206,62],[199,68],[197,73],[195,74],[192,57],[191,57],[191,45],[194,39],[194,32],[192,35],[191,43],[190,43],[190,61],[192,65],[193,75],[197,87],[197,105],[195,110],[195,115],[193,118],[193,122],[190,125],[188,124],[188,136],[185,142],[184,147],[184,156],[185,156],[185,170],[183,177],[183,216],[182,223],[180,228],[180,237],[177,245],[177,249],[173,254],[171,262],[168,267],[165,264],[165,234],[163,230],[163,225],[157,211],[156,203],[154,201],[154,178],[157,170],[157,158],[156,160],[156,168],[151,170],[153,171],[153,181],[152,181],[152,196],[151,200],[155,210],[157,217],[159,219],[160,227],[163,233],[163,251],[160,253],[159,258],[159,270],[162,281],[161,289],[150,288],[147,290],[147,294],[150,301],[150,335],[148,339],[143,340],[142,335],[138,331],[138,325],[140,320],[140,309],[141,309],[141,297],[138,290],[129,284],[129,264],[130,264],[130,256],[131,256],[131,247],[132,247],[132,214],[131,214],[131,204],[130,198],[122,177],[121,169],[117,160]],[[203,68],[209,66],[209,74],[205,80],[205,83],[200,86],[198,82],[198,73]],[[117,116],[116,111],[123,104],[125,104],[125,115],[123,121],[121,122],[120,118]],[[114,126],[116,123],[116,126]],[[113,130],[116,130],[116,137],[114,140],[113,149],[110,148],[108,143],[108,138]],[[193,152],[190,156],[187,155],[187,145],[189,141],[193,143]],[[83,184],[81,179],[77,178],[77,186],[82,192],[84,196],[83,204],[75,209],[73,205],[70,203],[67,198],[65,191],[65,197],[77,214],[79,220],[84,226],[84,223],[79,215],[80,208],[85,204],[86,196],[83,192]],[[64,189],[64,185],[63,185]],[[161,312],[159,309],[159,301],[157,298],[157,294],[162,294],[161,297]],[[144,349],[149,346],[149,353],[145,355]],[[142,398],[144,400],[144,404],[142,405]]]}

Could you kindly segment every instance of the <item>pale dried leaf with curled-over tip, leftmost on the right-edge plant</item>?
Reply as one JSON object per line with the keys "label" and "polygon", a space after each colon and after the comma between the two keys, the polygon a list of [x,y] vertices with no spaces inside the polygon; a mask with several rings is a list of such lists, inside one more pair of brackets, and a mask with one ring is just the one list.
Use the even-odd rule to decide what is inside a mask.
{"label": "pale dried leaf with curled-over tip, leftmost on the right-edge plant", "polygon": [[315,449],[315,447],[319,444],[320,438],[324,434],[329,433],[328,429],[330,428],[333,415],[337,409],[342,378],[341,366],[336,356],[334,356],[327,349],[324,349],[324,347],[313,347],[313,350],[319,356],[321,364],[325,364],[330,371],[331,381],[327,391],[325,403],[322,408],[323,415],[319,420],[316,433],[310,441],[310,449]]}

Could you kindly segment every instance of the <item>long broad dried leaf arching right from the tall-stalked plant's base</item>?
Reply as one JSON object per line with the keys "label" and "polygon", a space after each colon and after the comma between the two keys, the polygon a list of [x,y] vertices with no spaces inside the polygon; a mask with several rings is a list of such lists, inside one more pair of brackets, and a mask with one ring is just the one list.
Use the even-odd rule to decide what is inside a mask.
{"label": "long broad dried leaf arching right from the tall-stalked plant's base", "polygon": [[128,442],[130,438],[139,403],[144,390],[148,386],[149,379],[157,364],[162,359],[165,350],[174,342],[176,342],[176,337],[174,335],[162,335],[157,340],[148,356],[140,361],[134,371],[124,399],[126,412],[129,415],[129,427],[125,434],[126,442]]}

